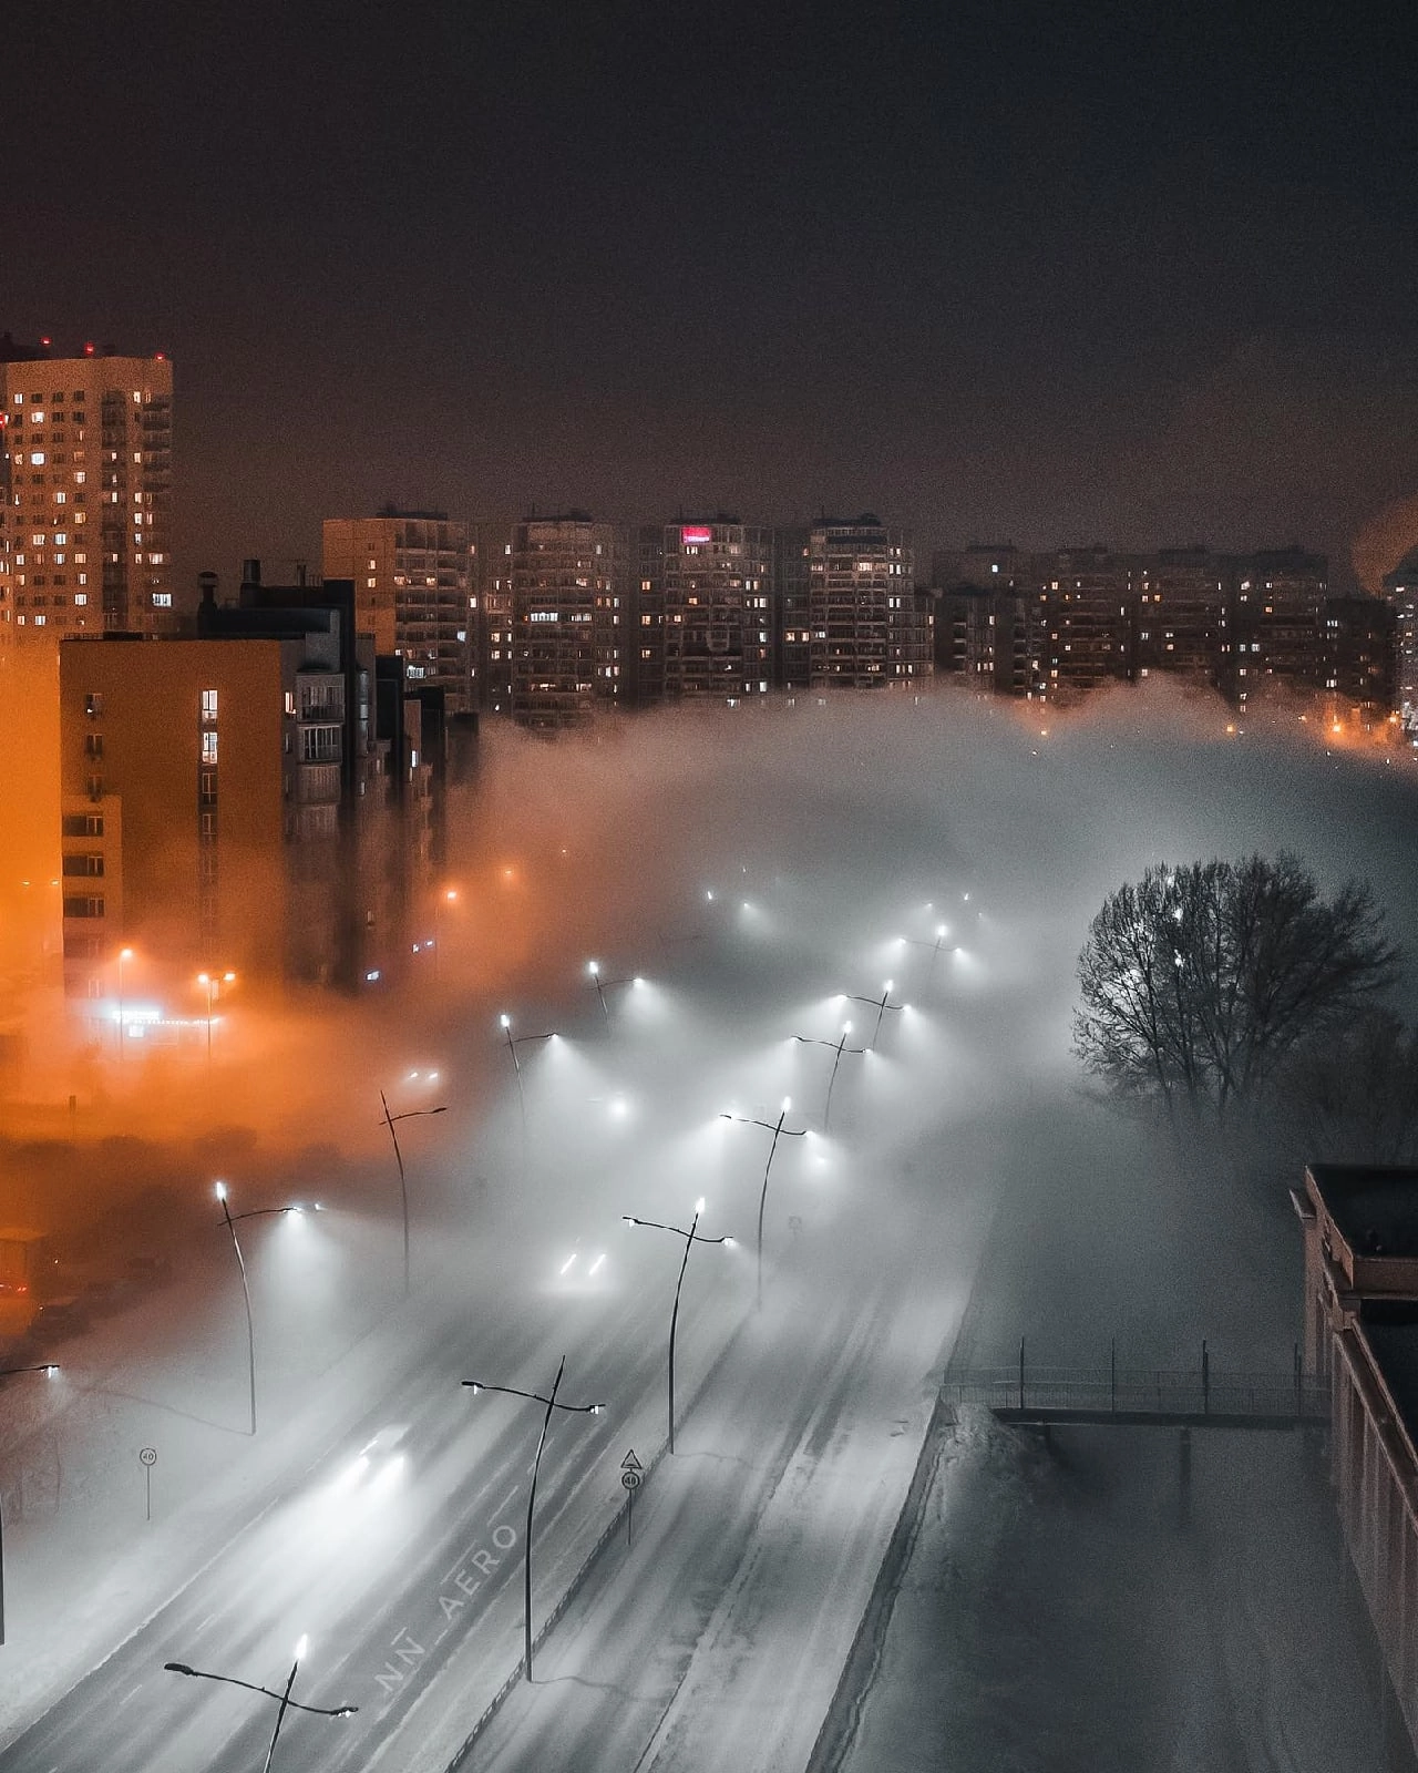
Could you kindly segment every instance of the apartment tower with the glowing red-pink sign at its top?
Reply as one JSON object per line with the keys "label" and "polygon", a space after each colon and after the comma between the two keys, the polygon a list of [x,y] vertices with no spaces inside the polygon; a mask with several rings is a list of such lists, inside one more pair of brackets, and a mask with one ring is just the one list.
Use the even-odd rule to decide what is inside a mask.
{"label": "apartment tower with the glowing red-pink sign at its top", "polygon": [[665,697],[767,695],[775,674],[775,535],[723,514],[663,530]]}

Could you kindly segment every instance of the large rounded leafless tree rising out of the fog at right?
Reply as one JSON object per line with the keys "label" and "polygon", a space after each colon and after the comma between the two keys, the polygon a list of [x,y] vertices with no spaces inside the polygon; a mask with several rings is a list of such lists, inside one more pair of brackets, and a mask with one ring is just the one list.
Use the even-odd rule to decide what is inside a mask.
{"label": "large rounded leafless tree rising out of the fog at right", "polygon": [[1397,970],[1367,885],[1324,899],[1290,855],[1157,863],[1088,927],[1074,1051],[1117,1094],[1225,1121]]}

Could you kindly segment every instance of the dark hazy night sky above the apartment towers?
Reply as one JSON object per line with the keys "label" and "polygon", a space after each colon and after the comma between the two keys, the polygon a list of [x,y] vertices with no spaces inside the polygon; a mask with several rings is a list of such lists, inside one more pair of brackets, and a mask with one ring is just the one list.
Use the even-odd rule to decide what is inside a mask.
{"label": "dark hazy night sky above the apartment towers", "polygon": [[172,355],[191,571],[385,498],[1342,566],[1418,493],[1414,9],[1078,11],[12,0],[0,328]]}

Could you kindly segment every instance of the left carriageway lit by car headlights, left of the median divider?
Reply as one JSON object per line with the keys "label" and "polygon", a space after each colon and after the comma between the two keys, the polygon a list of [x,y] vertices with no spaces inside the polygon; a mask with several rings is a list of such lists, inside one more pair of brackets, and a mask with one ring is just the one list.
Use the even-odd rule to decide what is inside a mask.
{"label": "left carriageway lit by car headlights, left of the median divider", "polygon": [[[635,1275],[633,1259],[624,1266]],[[184,1681],[163,1663],[181,1660],[277,1686],[303,1631],[312,1651],[298,1697],[360,1706],[340,1723],[291,1722],[301,1734],[301,1764],[312,1769],[367,1764],[370,1738],[397,1722],[470,1631],[486,1640],[500,1679],[502,1652],[521,1633],[519,1555],[541,1410],[473,1399],[459,1381],[480,1376],[541,1390],[567,1353],[565,1397],[608,1404],[601,1417],[562,1418],[548,1443],[537,1493],[537,1592],[549,1605],[581,1541],[599,1532],[596,1509],[604,1514],[619,1504],[626,1424],[645,1410],[647,1422],[663,1425],[668,1303],[663,1264],[654,1262],[643,1285],[562,1296],[555,1308],[518,1296],[521,1271],[512,1269],[509,1282],[507,1308],[484,1298],[475,1326],[466,1319],[432,1326],[397,1395],[347,1438],[340,1457],[277,1502],[27,1730],[0,1757],[4,1773],[245,1769],[262,1730],[269,1734],[257,1700]],[[700,1305],[707,1300],[713,1310],[698,1319],[686,1294],[679,1351],[686,1395],[693,1372],[732,1330],[746,1287],[737,1273],[734,1287],[704,1294]],[[349,1484],[360,1445],[392,1425],[406,1434],[393,1457],[374,1461],[386,1475]],[[420,1645],[417,1656],[409,1644]]]}

